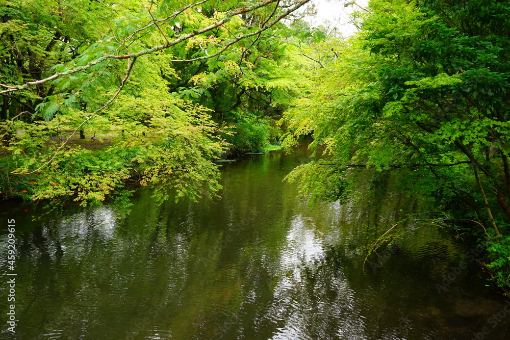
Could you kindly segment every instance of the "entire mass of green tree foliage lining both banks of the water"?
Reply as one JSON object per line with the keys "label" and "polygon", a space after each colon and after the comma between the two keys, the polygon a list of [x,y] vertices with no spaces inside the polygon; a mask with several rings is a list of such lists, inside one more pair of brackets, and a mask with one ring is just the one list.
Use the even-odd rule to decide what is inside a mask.
{"label": "entire mass of green tree foliage lining both banks of the water", "polygon": [[510,4],[372,0],[345,40],[295,16],[308,1],[0,0],[3,196],[211,197],[218,158],[312,135],[330,157],[288,177],[312,202],[391,174],[510,286]]}

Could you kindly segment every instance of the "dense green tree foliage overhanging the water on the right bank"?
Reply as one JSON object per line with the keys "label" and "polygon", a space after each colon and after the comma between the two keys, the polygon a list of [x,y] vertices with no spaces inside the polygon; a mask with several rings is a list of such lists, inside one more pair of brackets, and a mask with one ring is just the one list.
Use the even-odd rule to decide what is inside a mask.
{"label": "dense green tree foliage overhanging the water on the right bank", "polygon": [[287,144],[312,133],[331,158],[289,178],[335,201],[351,194],[353,169],[373,169],[374,185],[392,173],[400,189],[472,220],[495,281],[509,286],[510,4],[372,0],[359,16],[360,34],[326,42],[340,58],[329,53],[287,112]]}

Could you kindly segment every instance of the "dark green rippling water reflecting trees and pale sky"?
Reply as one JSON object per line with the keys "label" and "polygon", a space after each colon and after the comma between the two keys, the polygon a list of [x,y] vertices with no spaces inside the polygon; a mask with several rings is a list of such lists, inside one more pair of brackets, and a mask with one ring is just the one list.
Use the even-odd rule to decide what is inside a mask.
{"label": "dark green rippling water reflecting trees and pale sky", "polygon": [[[125,218],[108,205],[69,206],[34,221],[33,203],[0,203],[0,338],[510,338],[509,299],[466,257],[472,245],[441,229],[405,234],[364,273],[356,249],[420,199],[388,189],[375,206],[362,196],[310,211],[282,181],[309,156],[301,145],[223,163],[224,192],[212,202],[158,205],[139,189]],[[8,219],[17,238],[14,334]]]}

